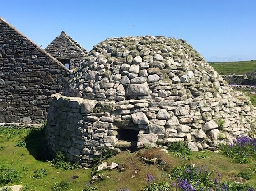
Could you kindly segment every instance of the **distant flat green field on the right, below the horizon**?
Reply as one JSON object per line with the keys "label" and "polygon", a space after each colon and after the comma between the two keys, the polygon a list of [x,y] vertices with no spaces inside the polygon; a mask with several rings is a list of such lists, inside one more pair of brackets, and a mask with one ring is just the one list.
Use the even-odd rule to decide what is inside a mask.
{"label": "distant flat green field on the right, below the horizon", "polygon": [[256,71],[256,60],[240,62],[209,62],[220,75],[246,75]]}

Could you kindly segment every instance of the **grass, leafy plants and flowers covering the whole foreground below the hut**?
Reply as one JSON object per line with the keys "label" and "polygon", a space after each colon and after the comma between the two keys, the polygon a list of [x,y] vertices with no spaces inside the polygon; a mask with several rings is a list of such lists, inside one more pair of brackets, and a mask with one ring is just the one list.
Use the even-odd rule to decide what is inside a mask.
{"label": "grass, leafy plants and flowers covering the whole foreground below the hut", "polygon": [[[5,132],[3,133],[5,135],[8,134],[6,132],[10,130],[4,129],[0,128],[0,132]],[[39,155],[35,149],[38,148],[39,143],[42,143],[43,130],[11,129],[11,131],[16,135],[13,136],[11,134],[11,136],[8,136],[11,137],[9,139],[0,133],[0,147],[4,147],[0,151],[0,164],[19,171],[20,180],[14,181],[14,183],[9,182],[9,185],[21,184],[23,185],[23,191],[94,191],[96,189],[98,191],[143,191],[149,185],[147,174],[154,176],[154,181],[151,182],[151,186],[149,185],[150,189],[158,189],[157,191],[160,191],[160,189],[162,191],[167,191],[167,189],[178,191],[179,189],[182,191],[182,189],[188,190],[195,187],[192,186],[194,183],[191,180],[195,182],[197,178],[199,178],[197,182],[204,182],[200,183],[201,185],[210,187],[210,183],[213,183],[215,178],[219,181],[218,173],[221,174],[221,182],[218,182],[218,184],[214,183],[214,191],[220,190],[221,187],[228,187],[229,191],[248,191],[250,187],[255,189],[256,173],[254,172],[256,160],[254,158],[251,158],[250,164],[237,164],[235,159],[211,151],[189,151],[188,153],[183,151],[186,150],[186,143],[183,142],[170,144],[169,154],[160,151],[158,148],[149,147],[135,152],[121,151],[117,155],[102,159],[107,164],[116,162],[119,164],[119,167],[96,173],[95,176],[102,176],[102,181],[88,184],[91,180],[91,169],[56,169],[51,165],[50,161],[52,159],[46,161],[38,160],[38,157],[35,157]],[[42,136],[40,133],[42,133]],[[32,134],[37,135],[39,139],[33,138]],[[27,146],[16,147],[17,142],[23,140],[27,143]],[[32,140],[34,141],[34,147],[31,145]],[[183,154],[178,157],[177,151]],[[147,159],[157,158],[157,162],[156,164],[145,164],[141,157]],[[62,153],[56,158],[65,160],[65,155]],[[39,177],[39,174],[44,171],[42,169],[46,171],[46,175],[43,175],[42,178],[33,178],[35,174]],[[124,170],[121,171],[121,169]],[[202,170],[201,173],[201,169],[205,169],[205,171]],[[191,172],[188,172],[188,170]],[[209,175],[206,171],[208,171]],[[187,174],[189,174],[190,180],[186,179]],[[180,180],[177,177],[169,178],[174,175],[180,178]],[[244,177],[244,179],[248,176],[249,180],[245,179],[244,184],[240,185],[234,182],[238,178],[236,176],[239,176],[239,178]],[[210,180],[207,179],[208,177]],[[215,186],[219,188],[217,189]],[[198,189],[199,186],[196,188]],[[250,189],[250,191],[253,191],[253,188]],[[148,189],[148,191],[150,190]]]}

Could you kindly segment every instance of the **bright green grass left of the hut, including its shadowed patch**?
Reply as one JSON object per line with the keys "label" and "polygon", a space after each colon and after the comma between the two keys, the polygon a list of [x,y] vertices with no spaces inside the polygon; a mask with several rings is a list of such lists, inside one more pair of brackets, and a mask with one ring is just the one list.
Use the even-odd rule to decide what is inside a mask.
{"label": "bright green grass left of the hut, including its shadowed patch", "polygon": [[[43,137],[43,129],[0,128],[0,164],[19,171],[21,176],[20,181],[10,182],[9,185],[21,184],[27,187],[23,191],[52,191],[69,185],[68,190],[82,191],[90,181],[91,170],[61,170],[52,167],[43,156]],[[17,147],[21,141],[26,141],[27,147]],[[73,179],[74,176],[78,178]]]}

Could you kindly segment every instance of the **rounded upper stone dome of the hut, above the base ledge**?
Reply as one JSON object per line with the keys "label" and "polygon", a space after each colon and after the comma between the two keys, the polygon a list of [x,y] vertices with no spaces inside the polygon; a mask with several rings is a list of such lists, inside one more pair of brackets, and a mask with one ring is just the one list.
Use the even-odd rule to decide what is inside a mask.
{"label": "rounded upper stone dome of the hut, above the base ledge", "polygon": [[185,40],[127,36],[95,45],[63,95],[116,101],[179,100],[179,95],[185,100],[216,89],[221,92],[222,87],[225,92],[232,91]]}

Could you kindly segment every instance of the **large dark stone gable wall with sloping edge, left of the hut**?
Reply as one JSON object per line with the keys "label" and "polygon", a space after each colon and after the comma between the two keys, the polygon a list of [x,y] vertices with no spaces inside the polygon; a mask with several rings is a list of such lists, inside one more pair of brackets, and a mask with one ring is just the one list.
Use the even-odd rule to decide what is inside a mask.
{"label": "large dark stone gable wall with sloping edge, left of the hut", "polygon": [[0,18],[0,123],[42,123],[71,71]]}

